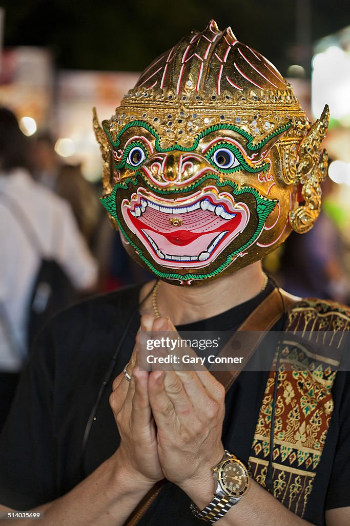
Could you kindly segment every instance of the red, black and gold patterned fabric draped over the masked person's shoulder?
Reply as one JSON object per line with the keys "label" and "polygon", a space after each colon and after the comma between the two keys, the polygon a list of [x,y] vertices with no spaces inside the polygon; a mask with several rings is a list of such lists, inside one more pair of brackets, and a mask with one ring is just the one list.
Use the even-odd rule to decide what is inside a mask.
{"label": "red, black and gold patterned fabric draped over the masked person's shoulder", "polygon": [[289,313],[261,403],[249,458],[254,480],[266,487],[273,425],[273,496],[303,517],[333,412],[332,387],[340,365],[350,309],[302,300]]}

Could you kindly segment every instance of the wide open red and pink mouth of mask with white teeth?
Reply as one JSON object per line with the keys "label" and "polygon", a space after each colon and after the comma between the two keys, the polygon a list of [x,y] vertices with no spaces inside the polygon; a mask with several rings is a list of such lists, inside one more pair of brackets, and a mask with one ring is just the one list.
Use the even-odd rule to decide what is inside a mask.
{"label": "wide open red and pink mouth of mask with white teeth", "polygon": [[182,268],[208,265],[249,220],[246,205],[210,189],[175,201],[139,188],[122,214],[155,261]]}

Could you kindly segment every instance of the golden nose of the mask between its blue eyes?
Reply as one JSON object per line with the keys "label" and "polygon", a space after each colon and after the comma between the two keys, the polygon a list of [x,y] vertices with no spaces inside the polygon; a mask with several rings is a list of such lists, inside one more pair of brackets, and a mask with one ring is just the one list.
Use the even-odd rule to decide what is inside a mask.
{"label": "golden nose of the mask between its blue eyes", "polygon": [[162,186],[181,185],[195,180],[215,169],[208,160],[194,152],[174,150],[169,153],[155,153],[143,164],[143,170],[152,180]]}

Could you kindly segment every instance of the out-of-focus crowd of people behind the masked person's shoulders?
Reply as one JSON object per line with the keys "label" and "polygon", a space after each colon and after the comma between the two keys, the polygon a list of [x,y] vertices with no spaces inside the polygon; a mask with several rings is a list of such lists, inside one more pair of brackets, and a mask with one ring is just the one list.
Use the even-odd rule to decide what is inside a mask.
{"label": "out-of-focus crowd of people behind the masked person's shoulders", "polygon": [[[79,165],[63,163],[54,146],[49,133],[24,136],[15,115],[0,107],[0,429],[30,343],[52,314],[151,278],[123,250],[99,204],[100,185]],[[347,252],[323,210],[310,232],[292,234],[265,266],[292,294],[348,303]]]}

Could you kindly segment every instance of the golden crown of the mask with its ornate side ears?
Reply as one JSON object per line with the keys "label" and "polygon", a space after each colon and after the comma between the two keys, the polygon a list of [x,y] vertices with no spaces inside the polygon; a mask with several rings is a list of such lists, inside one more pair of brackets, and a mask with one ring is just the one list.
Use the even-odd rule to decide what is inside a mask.
{"label": "golden crown of the mask with its ornate side ears", "polygon": [[[210,21],[192,32],[145,69],[111,119],[94,130],[103,158],[104,194],[113,188],[114,159],[110,138],[135,119],[152,125],[161,146],[193,144],[205,126],[230,123],[254,137],[256,144],[281,130],[276,146],[287,185],[302,185],[300,206],[291,210],[290,226],[303,233],[312,228],[321,208],[321,183],[327,153],[321,143],[329,111],[311,125],[290,84],[260,53],[238,42],[230,27],[219,31]],[[105,133],[107,132],[107,133]],[[280,134],[280,131],[279,131]]]}

